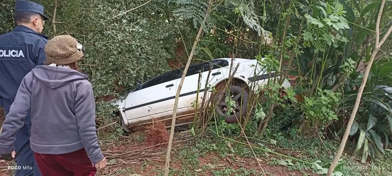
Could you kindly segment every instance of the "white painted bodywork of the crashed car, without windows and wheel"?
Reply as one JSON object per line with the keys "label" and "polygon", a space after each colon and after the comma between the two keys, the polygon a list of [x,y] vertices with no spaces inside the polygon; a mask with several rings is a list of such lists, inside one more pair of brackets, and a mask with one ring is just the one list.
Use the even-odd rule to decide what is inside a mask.
{"label": "white painted bodywork of the crashed car, without windows and wheel", "polygon": [[[228,79],[230,74],[231,58],[219,58],[214,60],[222,61],[222,63],[223,61],[225,61],[226,65],[226,61],[228,61],[229,64],[225,67],[217,67],[215,69],[212,69],[207,84],[210,86],[216,86],[221,81]],[[240,79],[250,86],[252,81],[249,80],[249,78],[255,78],[256,76],[256,78],[261,79],[256,81],[256,84],[261,86],[267,83],[268,76],[265,73],[261,72],[260,65],[257,66],[256,70],[256,74],[259,74],[255,75],[255,67],[258,64],[257,60],[236,58],[233,62],[233,71],[237,66],[237,63],[239,63],[239,66],[237,72],[234,74],[235,79]],[[208,87],[205,87],[209,73],[208,71],[209,69],[202,72],[200,91],[198,95],[199,108],[203,101],[204,90],[208,89]],[[118,108],[122,117],[123,128],[150,123],[152,121],[152,118],[170,119],[173,114],[176,92],[181,81],[182,73],[179,74],[180,75],[178,75],[178,77],[176,77],[176,79],[174,80],[153,85],[151,87],[142,88],[140,90],[134,90],[127,95],[125,100],[117,100],[116,102],[114,102],[113,104],[119,105]],[[192,110],[194,111],[194,108],[191,106],[191,104],[197,98],[198,80],[199,74],[189,75],[185,77],[178,101],[177,114],[189,112]],[[149,81],[142,84],[142,87],[143,85],[147,85]],[[166,87],[169,85],[173,86]],[[290,83],[286,80],[283,84],[283,87],[290,87]],[[206,97],[211,97],[210,91],[207,91]],[[206,104],[207,101],[208,99],[205,100],[204,104]]]}

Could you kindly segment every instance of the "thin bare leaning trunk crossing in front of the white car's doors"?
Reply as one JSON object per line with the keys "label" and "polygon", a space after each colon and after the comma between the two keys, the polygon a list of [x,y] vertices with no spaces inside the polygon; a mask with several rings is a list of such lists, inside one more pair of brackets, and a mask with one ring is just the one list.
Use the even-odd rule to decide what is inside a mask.
{"label": "thin bare leaning trunk crossing in front of the white car's doors", "polygon": [[174,107],[173,107],[172,126],[170,128],[169,144],[167,145],[165,174],[164,174],[165,176],[169,175],[170,153],[171,153],[171,150],[172,150],[174,128],[175,128],[175,125],[176,125],[176,114],[177,114],[178,98],[180,96],[181,88],[182,88],[182,85],[184,83],[185,75],[188,72],[188,68],[189,68],[189,65],[190,65],[190,61],[192,60],[192,57],[193,57],[193,54],[194,54],[194,50],[196,49],[196,46],[198,45],[198,42],[199,42],[199,39],[200,39],[200,36],[202,35],[203,26],[204,26],[204,24],[207,21],[208,14],[211,12],[212,2],[213,2],[213,0],[210,0],[209,5],[208,5],[208,9],[207,9],[207,13],[204,16],[204,20],[203,20],[202,24],[200,25],[199,32],[198,32],[196,38],[194,39],[192,50],[189,53],[188,61],[186,62],[186,65],[185,65],[185,68],[184,68],[184,72],[182,73],[180,85],[178,86],[178,89],[177,89],[176,99],[174,101]]}

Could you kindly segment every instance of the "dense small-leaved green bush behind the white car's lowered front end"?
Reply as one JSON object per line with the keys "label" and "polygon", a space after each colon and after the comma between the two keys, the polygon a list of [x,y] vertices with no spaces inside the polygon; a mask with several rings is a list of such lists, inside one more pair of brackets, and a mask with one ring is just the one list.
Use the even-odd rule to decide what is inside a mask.
{"label": "dense small-leaved green bush behind the white car's lowered front end", "polygon": [[[171,25],[171,22],[165,22],[169,17],[167,12],[162,11],[156,4],[156,8],[153,6],[138,9],[137,12],[132,11],[133,13],[121,15],[121,18],[108,15],[116,12],[121,4],[121,1],[118,3],[102,2],[94,7],[97,13],[93,18],[106,19],[103,24],[96,26],[97,29],[102,27],[104,29],[92,37],[92,40],[97,42],[89,41],[93,45],[86,47],[90,49],[88,50],[90,57],[96,58],[95,60],[86,59],[86,64],[97,64],[97,68],[90,74],[93,78],[92,82],[96,83],[96,87],[101,90],[96,91],[98,94],[113,93],[113,85],[116,83],[133,88],[135,81],[146,81],[169,70],[166,59],[170,58],[170,54],[165,47],[173,47],[174,38],[173,30],[167,30]],[[136,5],[128,2],[126,6],[135,7]],[[122,12],[120,11],[119,14]],[[162,15],[165,16],[161,17]],[[108,43],[103,41],[108,41]],[[172,41],[172,44],[157,45],[163,44],[163,41]]]}

